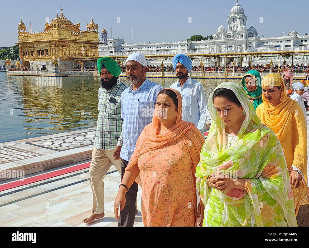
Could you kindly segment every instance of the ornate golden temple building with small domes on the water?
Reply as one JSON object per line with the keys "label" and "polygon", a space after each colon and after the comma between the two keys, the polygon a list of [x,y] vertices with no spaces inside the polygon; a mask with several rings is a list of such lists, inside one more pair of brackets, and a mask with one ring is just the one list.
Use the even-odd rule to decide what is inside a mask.
{"label": "ornate golden temple building with small domes on the water", "polygon": [[[91,22],[86,24],[87,31],[80,30],[80,24],[73,24],[62,12],[51,22],[46,23],[42,32],[27,32],[22,19],[18,24],[19,55],[23,67],[30,70],[46,69],[72,70],[83,66],[95,67],[94,61],[80,58],[98,56],[99,27],[91,16]],[[76,58],[76,59],[74,59]],[[79,59],[78,59],[79,58]]]}

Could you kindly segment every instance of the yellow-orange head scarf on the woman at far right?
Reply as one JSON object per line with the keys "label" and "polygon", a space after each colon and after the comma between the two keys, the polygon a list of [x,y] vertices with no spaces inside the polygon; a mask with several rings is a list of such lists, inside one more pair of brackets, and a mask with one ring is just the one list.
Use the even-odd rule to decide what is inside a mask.
{"label": "yellow-orange head scarf on the woman at far right", "polygon": [[293,118],[293,106],[297,104],[286,94],[286,87],[281,76],[277,73],[266,75],[261,83],[262,89],[267,86],[281,86],[280,102],[277,106],[273,106],[263,97],[263,110],[260,119],[263,124],[273,130],[279,139],[282,141],[286,134],[290,131],[290,124]]}

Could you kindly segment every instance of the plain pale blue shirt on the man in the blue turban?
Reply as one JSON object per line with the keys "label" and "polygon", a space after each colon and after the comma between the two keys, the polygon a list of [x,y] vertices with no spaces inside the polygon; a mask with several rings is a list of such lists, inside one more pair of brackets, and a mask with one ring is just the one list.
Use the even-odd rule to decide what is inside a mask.
{"label": "plain pale blue shirt on the man in the blue turban", "polygon": [[181,87],[179,80],[171,85],[182,97],[182,119],[192,122],[204,135],[207,120],[207,105],[203,85],[188,77]]}

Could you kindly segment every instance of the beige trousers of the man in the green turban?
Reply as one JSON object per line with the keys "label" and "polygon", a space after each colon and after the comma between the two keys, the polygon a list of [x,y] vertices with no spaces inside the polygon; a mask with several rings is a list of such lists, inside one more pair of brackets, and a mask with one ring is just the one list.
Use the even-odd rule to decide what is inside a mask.
{"label": "beige trousers of the man in the green turban", "polygon": [[[121,173],[121,159],[113,158],[114,150],[99,150],[93,148],[89,169],[92,190],[92,213],[104,213],[104,177],[112,165]],[[120,184],[119,180],[119,184]],[[136,204],[137,207],[137,204]]]}

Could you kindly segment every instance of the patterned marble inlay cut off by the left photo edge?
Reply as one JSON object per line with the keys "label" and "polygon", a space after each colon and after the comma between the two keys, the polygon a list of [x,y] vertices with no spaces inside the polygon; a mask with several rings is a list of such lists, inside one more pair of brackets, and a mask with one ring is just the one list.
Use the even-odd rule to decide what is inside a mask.
{"label": "patterned marble inlay cut off by the left photo edge", "polygon": [[26,158],[33,158],[36,156],[41,156],[41,154],[35,152],[29,152],[11,146],[0,147],[0,164],[5,164]]}

